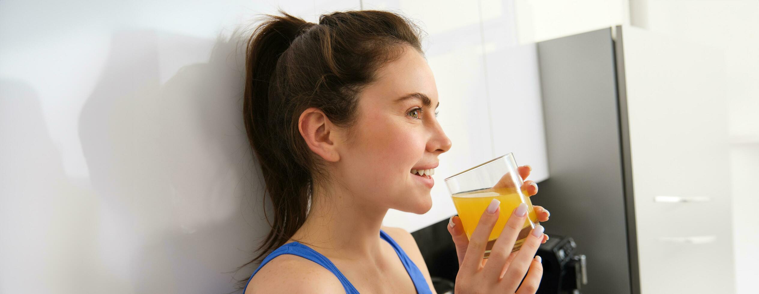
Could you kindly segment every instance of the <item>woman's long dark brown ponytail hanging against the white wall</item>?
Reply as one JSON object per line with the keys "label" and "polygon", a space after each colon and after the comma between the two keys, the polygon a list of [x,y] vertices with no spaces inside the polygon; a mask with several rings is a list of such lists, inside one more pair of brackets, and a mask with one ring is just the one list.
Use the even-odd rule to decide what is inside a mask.
{"label": "woman's long dark brown ponytail hanging against the white wall", "polygon": [[[309,184],[308,170],[286,152],[286,140],[282,137],[285,117],[282,99],[276,79],[277,61],[290,47],[295,38],[315,23],[279,11],[284,16],[269,16],[269,20],[257,27],[247,44],[246,85],[243,102],[244,124],[250,145],[255,150],[263,170],[266,191],[275,208],[272,230],[263,240],[263,249],[253,261],[257,261],[270,249],[281,246],[304,223],[307,212]],[[272,89],[271,95],[269,90]],[[282,149],[285,147],[285,149]],[[263,197],[266,202],[266,197]],[[266,207],[266,205],[264,205]],[[266,213],[266,210],[264,210]],[[268,215],[266,216],[268,220]],[[253,262],[250,261],[250,262]],[[249,262],[249,263],[250,263]]]}

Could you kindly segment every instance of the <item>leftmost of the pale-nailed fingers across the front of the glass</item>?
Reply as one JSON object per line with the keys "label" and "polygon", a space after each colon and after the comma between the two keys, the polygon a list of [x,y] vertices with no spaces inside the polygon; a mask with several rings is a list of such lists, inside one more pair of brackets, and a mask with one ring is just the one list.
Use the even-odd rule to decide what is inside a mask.
{"label": "leftmost of the pale-nailed fingers across the front of the glass", "polygon": [[498,214],[501,211],[500,204],[501,202],[498,199],[493,199],[490,205],[483,211],[482,216],[480,216],[480,221],[469,238],[469,246],[467,247],[464,261],[461,261],[462,269],[470,272],[480,269],[487,240],[490,239],[490,232],[493,232],[493,227],[496,225]]}

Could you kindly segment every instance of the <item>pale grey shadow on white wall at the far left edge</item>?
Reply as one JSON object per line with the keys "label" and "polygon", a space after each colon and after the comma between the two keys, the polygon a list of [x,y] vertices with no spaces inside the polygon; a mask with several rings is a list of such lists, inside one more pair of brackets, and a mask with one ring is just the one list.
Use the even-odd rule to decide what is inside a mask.
{"label": "pale grey shadow on white wall at the far left edge", "polygon": [[[102,270],[91,253],[96,197],[67,178],[35,89],[2,79],[0,93],[0,289],[82,292],[84,275]],[[93,277],[118,285],[108,271]]]}

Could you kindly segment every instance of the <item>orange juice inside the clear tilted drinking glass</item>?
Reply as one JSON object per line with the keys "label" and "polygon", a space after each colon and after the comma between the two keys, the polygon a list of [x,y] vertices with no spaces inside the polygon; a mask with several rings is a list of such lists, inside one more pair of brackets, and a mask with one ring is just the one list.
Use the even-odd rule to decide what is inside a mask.
{"label": "orange juice inside the clear tilted drinking glass", "polygon": [[477,227],[477,224],[480,222],[480,216],[485,212],[487,205],[490,205],[490,202],[493,201],[494,198],[501,202],[501,211],[499,212],[496,227],[493,227],[493,231],[490,232],[490,238],[488,238],[485,253],[485,257],[487,257],[490,254],[490,249],[493,247],[493,243],[496,242],[496,239],[498,239],[498,236],[501,234],[503,226],[506,224],[506,220],[509,220],[514,208],[519,206],[522,202],[521,199],[524,199],[524,202],[527,203],[528,219],[524,220],[524,226],[517,236],[517,241],[515,242],[512,252],[521,248],[524,238],[528,236],[532,228],[539,224],[537,221],[537,214],[535,214],[535,210],[532,208],[532,202],[528,195],[527,190],[517,192],[515,189],[488,188],[455,193],[452,195],[452,198],[453,205],[455,205],[456,211],[458,211],[458,217],[461,218],[461,223],[464,224],[464,231],[469,239],[471,239],[472,233],[474,233],[474,228]]}

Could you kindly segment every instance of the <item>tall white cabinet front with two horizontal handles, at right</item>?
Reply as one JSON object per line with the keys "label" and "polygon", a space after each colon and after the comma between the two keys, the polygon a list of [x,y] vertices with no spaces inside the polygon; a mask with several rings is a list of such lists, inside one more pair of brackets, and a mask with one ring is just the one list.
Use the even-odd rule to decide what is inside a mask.
{"label": "tall white cabinet front with two horizontal handles, at right", "polygon": [[641,292],[733,292],[723,52],[635,27],[621,39]]}

